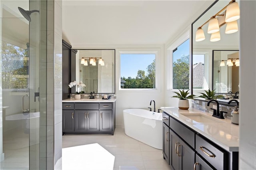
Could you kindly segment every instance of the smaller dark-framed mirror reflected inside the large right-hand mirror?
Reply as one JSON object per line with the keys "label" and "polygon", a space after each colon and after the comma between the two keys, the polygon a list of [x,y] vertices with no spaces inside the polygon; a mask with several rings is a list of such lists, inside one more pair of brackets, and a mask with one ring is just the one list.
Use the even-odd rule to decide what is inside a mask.
{"label": "smaller dark-framed mirror reflected inside the large right-hand mirror", "polygon": [[212,89],[216,93],[236,93],[239,91],[239,51],[212,51]]}

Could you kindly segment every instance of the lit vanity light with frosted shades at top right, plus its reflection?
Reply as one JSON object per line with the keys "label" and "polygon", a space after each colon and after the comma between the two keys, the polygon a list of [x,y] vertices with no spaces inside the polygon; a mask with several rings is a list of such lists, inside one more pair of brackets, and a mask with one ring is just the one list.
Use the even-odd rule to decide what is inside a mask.
{"label": "lit vanity light with frosted shades at top right, plus its reflection", "polygon": [[[226,10],[226,11],[224,11]],[[225,16],[225,21],[222,23],[219,19],[219,17],[224,17]],[[220,40],[220,27],[224,26],[226,24],[226,34],[232,34],[234,32],[238,31],[238,24],[237,20],[240,18],[240,9],[238,6],[238,3],[235,0],[232,0],[229,2],[227,6],[222,8],[217,14],[212,16],[208,21],[206,21],[202,26],[198,27],[196,31],[196,42],[200,42],[205,40],[204,36],[204,30],[202,27],[208,24],[208,34],[212,34],[210,41],[211,42],[216,42]],[[220,25],[219,25],[220,24]]]}

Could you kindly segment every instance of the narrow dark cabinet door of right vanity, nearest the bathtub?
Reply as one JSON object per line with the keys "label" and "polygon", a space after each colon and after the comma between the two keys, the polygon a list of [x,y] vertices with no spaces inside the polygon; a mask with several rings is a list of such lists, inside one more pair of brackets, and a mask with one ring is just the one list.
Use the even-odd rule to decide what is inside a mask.
{"label": "narrow dark cabinet door of right vanity, nearest the bathtub", "polygon": [[169,139],[170,139],[169,129],[170,128],[163,123],[163,156],[164,156],[164,159],[168,162],[168,164],[169,164]]}

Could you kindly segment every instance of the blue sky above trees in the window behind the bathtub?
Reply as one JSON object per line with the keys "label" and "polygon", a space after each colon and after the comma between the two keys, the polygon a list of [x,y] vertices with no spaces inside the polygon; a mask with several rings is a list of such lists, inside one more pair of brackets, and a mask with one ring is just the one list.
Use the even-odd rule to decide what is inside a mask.
{"label": "blue sky above trees in the window behind the bathtub", "polygon": [[155,54],[121,54],[121,77],[136,78],[138,70],[144,70],[156,58]]}

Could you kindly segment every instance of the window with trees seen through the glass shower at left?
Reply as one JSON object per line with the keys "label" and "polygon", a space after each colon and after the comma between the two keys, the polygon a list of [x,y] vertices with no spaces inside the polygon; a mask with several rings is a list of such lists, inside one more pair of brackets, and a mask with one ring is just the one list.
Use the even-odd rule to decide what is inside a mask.
{"label": "window with trees seen through the glass shower at left", "polygon": [[28,50],[2,42],[2,89],[28,88]]}

